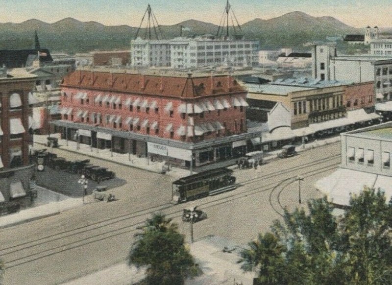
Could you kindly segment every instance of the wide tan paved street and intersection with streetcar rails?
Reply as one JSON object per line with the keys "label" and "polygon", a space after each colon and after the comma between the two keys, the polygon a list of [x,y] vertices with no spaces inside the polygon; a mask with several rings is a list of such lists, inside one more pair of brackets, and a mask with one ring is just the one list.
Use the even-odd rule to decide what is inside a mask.
{"label": "wide tan paved street and intersection with streetcar rails", "polygon": [[[55,150],[67,159],[84,159]],[[180,219],[182,208],[198,205],[208,214],[194,226],[195,239],[217,235],[246,244],[269,230],[281,218],[282,207],[299,206],[297,175],[302,205],[320,197],[313,184],[340,163],[340,144],[333,143],[271,161],[255,169],[236,170],[236,190],[182,205],[168,204],[173,178],[110,162],[96,161],[113,169],[125,185],[110,190],[120,200],[89,203],[62,214],[2,230],[0,257],[6,262],[4,284],[59,284],[117,262],[124,262],[136,227],[153,211],[174,218],[189,240],[189,224]],[[61,266],[60,266],[61,264]]]}

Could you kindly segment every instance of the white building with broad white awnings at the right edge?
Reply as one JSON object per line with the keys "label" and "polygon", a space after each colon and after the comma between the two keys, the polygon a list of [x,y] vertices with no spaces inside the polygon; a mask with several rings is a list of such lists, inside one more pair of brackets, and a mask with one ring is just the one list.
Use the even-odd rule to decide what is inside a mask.
{"label": "white building with broad white awnings at the right edge", "polygon": [[341,134],[342,164],[331,175],[316,182],[315,187],[330,202],[347,206],[350,194],[364,187],[385,191],[392,196],[392,122]]}

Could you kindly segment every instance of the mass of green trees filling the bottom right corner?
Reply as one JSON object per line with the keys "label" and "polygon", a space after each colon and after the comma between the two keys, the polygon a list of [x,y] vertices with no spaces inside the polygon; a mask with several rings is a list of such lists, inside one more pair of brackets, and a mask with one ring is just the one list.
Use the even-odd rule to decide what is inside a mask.
{"label": "mass of green trees filling the bottom right corner", "polygon": [[326,198],[307,206],[285,210],[283,222],[249,242],[242,268],[257,269],[260,284],[268,285],[392,284],[392,200],[364,189],[342,217]]}

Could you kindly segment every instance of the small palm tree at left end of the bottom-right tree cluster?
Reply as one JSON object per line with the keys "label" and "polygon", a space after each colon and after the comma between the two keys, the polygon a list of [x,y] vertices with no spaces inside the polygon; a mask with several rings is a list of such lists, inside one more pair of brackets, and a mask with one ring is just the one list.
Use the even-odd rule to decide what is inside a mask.
{"label": "small palm tree at left end of the bottom-right tree cluster", "polygon": [[241,268],[245,271],[259,269],[259,280],[265,284],[274,284],[279,278],[279,268],[284,259],[282,253],[286,251],[283,244],[272,233],[264,236],[259,234],[256,240],[248,243],[249,249],[241,252],[241,259],[238,263],[243,263]]}

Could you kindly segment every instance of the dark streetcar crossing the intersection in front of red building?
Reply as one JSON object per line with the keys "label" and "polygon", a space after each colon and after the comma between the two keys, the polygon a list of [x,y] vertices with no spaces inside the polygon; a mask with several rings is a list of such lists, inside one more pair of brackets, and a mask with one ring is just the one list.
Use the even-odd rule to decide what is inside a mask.
{"label": "dark streetcar crossing the intersection in front of red building", "polygon": [[180,178],[172,184],[172,203],[177,204],[208,195],[236,189],[233,170],[227,168],[211,169]]}

